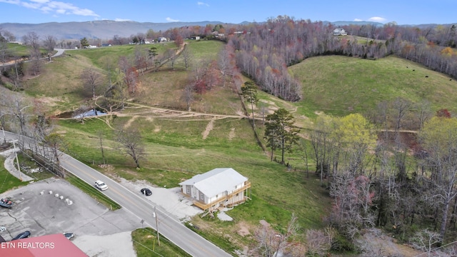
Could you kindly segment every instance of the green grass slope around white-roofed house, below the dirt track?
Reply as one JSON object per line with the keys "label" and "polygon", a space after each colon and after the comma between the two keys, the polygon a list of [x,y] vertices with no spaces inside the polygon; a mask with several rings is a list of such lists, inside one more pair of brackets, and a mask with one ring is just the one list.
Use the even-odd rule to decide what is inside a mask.
{"label": "green grass slope around white-roofed house, below the dirt track", "polygon": [[[131,119],[117,117],[111,121],[111,126],[126,124]],[[212,129],[204,138],[202,134],[210,123]],[[84,125],[63,120],[59,121],[58,129],[71,135],[66,137],[71,155],[114,177],[121,176],[131,181],[146,180],[157,186],[171,188],[196,173],[217,167],[231,167],[247,176],[252,183],[252,201],[228,212],[234,218],[233,223],[206,221],[198,217],[194,221],[202,228],[199,233],[213,238],[214,243],[225,247],[226,251],[241,248],[246,240],[253,240],[250,236],[246,238],[236,233],[240,223],[253,231],[258,221],[266,220],[281,231],[291,214],[295,213],[302,228],[300,233],[305,228],[322,226],[330,206],[325,188],[319,185],[317,178],[306,178],[303,164],[297,171],[287,171],[285,166],[269,161],[253,138],[248,120],[150,119],[139,116],[131,124],[141,130],[147,153],[140,161],[139,170],[136,170],[131,158],[122,156],[116,150],[114,133],[101,119],[91,119]],[[92,165],[101,163],[98,141],[94,140],[94,131],[99,129],[105,133],[108,168]]]}

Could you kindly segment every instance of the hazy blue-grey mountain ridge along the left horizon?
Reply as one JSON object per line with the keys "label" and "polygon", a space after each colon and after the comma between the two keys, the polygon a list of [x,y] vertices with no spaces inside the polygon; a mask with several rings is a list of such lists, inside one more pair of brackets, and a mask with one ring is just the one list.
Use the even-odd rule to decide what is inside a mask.
{"label": "hazy blue-grey mountain ridge along the left horizon", "polygon": [[225,24],[221,21],[152,23],[136,21],[84,21],[50,22],[44,24],[3,23],[0,28],[10,31],[20,41],[22,36],[34,31],[39,36],[55,36],[56,39],[112,39],[146,33],[149,29],[166,31],[181,26],[206,26],[206,24]]}

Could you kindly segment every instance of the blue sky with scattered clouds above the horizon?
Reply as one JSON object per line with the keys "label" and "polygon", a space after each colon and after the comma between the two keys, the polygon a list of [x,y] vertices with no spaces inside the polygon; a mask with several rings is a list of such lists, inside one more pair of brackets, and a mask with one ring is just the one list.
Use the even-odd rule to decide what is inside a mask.
{"label": "blue sky with scattered clouds above the horizon", "polygon": [[311,21],[455,24],[457,0],[0,0],[0,23],[66,21],[266,21],[278,15]]}

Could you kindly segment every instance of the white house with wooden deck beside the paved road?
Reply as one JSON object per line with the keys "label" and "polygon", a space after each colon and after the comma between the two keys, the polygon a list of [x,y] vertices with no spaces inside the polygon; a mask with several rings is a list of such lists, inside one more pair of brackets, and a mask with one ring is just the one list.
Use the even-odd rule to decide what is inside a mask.
{"label": "white house with wooden deck beside the paved road", "polygon": [[214,168],[179,183],[181,192],[194,200],[194,205],[213,211],[219,207],[231,207],[248,199],[248,178],[233,168]]}

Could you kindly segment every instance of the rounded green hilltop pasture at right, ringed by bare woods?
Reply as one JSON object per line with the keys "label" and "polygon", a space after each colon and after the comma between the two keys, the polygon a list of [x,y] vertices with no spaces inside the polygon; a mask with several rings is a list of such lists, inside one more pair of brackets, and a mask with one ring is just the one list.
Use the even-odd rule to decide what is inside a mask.
{"label": "rounded green hilltop pasture at right, ringed by bare woods", "polygon": [[395,56],[376,61],[318,56],[289,70],[303,84],[301,105],[316,111],[364,113],[381,101],[401,96],[413,102],[426,99],[435,111],[457,113],[457,81]]}

